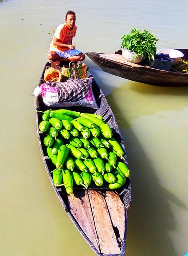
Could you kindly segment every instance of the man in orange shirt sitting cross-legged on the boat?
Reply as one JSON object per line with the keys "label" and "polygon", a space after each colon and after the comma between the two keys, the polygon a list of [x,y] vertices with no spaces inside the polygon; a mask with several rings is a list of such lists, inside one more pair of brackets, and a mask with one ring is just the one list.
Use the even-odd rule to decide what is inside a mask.
{"label": "man in orange shirt sitting cross-legged on the boat", "polygon": [[65,16],[65,23],[55,29],[47,56],[48,59],[55,61],[57,65],[61,61],[77,62],[84,60],[86,57],[81,51],[75,49],[75,45],[72,44],[72,39],[76,35],[77,29],[75,22],[75,12],[68,11]]}

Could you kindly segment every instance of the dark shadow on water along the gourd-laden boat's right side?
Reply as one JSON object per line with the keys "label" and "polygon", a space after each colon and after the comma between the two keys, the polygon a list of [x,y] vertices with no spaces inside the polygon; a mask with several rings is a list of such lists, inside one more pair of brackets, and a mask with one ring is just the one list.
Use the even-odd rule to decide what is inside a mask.
{"label": "dark shadow on water along the gourd-laden boat's right side", "polygon": [[121,129],[121,133],[129,149],[128,161],[133,165],[129,166],[133,169],[132,203],[128,210],[126,253],[140,256],[179,256],[170,236],[170,232],[175,231],[178,226],[172,204],[186,210],[187,206],[161,184],[156,169],[135,134],[130,129]]}

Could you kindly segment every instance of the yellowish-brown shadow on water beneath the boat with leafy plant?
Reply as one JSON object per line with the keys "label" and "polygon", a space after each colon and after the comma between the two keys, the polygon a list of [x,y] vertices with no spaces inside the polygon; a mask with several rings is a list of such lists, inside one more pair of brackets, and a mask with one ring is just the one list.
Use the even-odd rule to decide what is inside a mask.
{"label": "yellowish-brown shadow on water beneath the boat with leafy plant", "polygon": [[[184,110],[188,106],[187,96],[188,87],[157,87],[128,81],[114,88],[106,98],[116,113],[118,124],[128,128],[143,115]],[[129,124],[125,117],[130,120]]]}

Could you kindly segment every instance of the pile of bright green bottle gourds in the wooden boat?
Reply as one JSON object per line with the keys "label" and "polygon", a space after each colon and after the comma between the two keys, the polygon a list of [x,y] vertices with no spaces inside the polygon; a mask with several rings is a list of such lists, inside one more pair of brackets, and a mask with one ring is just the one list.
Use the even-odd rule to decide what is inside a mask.
{"label": "pile of bright green bottle gourds in the wooden boat", "polygon": [[99,187],[105,181],[110,189],[118,189],[125,184],[130,171],[124,151],[102,116],[66,109],[42,113],[39,130],[54,164],[56,187],[64,186],[73,197],[74,185],[87,189],[91,182]]}

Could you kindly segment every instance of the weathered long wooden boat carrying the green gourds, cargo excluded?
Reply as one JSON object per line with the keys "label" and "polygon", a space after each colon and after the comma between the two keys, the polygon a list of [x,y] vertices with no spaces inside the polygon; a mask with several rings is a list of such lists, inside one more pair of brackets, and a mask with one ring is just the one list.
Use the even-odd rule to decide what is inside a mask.
{"label": "weathered long wooden boat carrying the green gourds, cargo excluded", "polygon": [[[44,71],[47,66],[53,66],[53,63],[47,63],[45,65],[39,86],[44,83]],[[61,71],[61,67],[59,67],[59,70]],[[90,76],[89,71],[87,75],[88,77]],[[86,107],[76,107],[76,109],[72,107],[67,109],[102,115],[104,121],[112,128],[113,137],[121,143],[125,153],[125,146],[114,114],[94,79],[92,90],[98,104],[98,110]],[[44,134],[39,131],[39,122],[41,121],[42,114],[38,112],[38,110],[44,111],[47,109],[49,109],[49,107],[44,105],[41,96],[37,96],[36,122],[39,146],[47,174],[55,193],[80,234],[98,256],[124,256],[127,209],[129,209],[131,201],[130,178],[127,178],[123,187],[115,191],[110,190],[109,187],[104,184],[102,187],[98,188],[94,186],[88,189],[75,188],[74,200],[72,200],[70,195],[67,195],[64,187],[56,187],[51,176],[51,170],[54,169],[54,166],[51,165],[51,161],[47,157],[43,147]],[[50,109],[53,108],[50,107]],[[127,164],[126,154],[125,164]]]}

